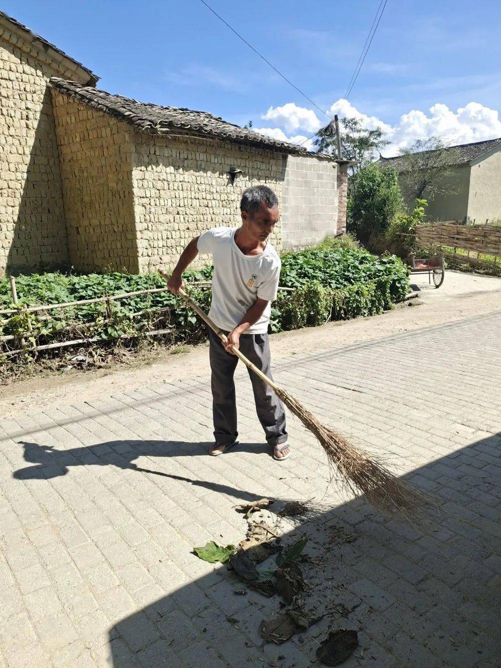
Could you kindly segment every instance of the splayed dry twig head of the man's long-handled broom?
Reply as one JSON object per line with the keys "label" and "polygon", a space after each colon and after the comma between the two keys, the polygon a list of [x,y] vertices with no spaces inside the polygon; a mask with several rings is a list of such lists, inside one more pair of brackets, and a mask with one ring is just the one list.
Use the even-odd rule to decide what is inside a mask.
{"label": "splayed dry twig head of the man's long-handled broom", "polygon": [[324,427],[297,399],[280,387],[276,390],[287,408],[296,415],[319,440],[349,490],[355,496],[363,495],[371,506],[397,513],[407,520],[421,517],[428,505],[426,498],[413,490],[389,471],[377,458],[355,448],[344,436]]}

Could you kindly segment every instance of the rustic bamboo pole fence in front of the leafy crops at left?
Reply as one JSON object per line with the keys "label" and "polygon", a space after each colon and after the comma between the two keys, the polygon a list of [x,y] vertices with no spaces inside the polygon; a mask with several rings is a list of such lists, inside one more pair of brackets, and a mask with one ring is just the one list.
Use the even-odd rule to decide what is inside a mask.
{"label": "rustic bamboo pole fence in front of the leafy crops at left", "polygon": [[[12,301],[14,304],[19,303],[19,297],[17,295],[17,286],[15,283],[15,277],[11,276],[9,277],[10,284],[11,284],[11,294],[12,294]],[[210,281],[196,281],[193,283],[188,284],[189,287],[210,287],[211,282]],[[286,292],[292,292],[295,290],[295,288],[286,288],[286,287],[279,287],[279,290],[281,291],[286,291]],[[78,301],[67,301],[67,302],[62,302],[58,304],[41,304],[41,305],[35,305],[35,306],[27,306],[23,305],[22,309],[25,311],[25,313],[41,313],[43,311],[53,311],[56,309],[66,309],[69,307],[79,307],[79,306],[86,306],[88,304],[96,304],[96,303],[104,303],[107,307],[108,312],[110,312],[110,302],[112,301],[119,301],[122,299],[128,299],[128,297],[136,297],[140,295],[153,295],[156,293],[165,293],[168,292],[167,287],[162,287],[162,288],[152,288],[149,290],[136,290],[134,292],[130,293],[121,293],[120,295],[107,295],[104,293],[102,297],[94,297],[93,299],[79,299]],[[137,311],[136,313],[131,313],[130,317],[137,317],[139,315],[145,315],[146,313],[162,313],[164,311],[168,311],[168,307],[160,307],[158,309],[144,309],[143,311]],[[19,309],[0,309],[0,316],[2,315],[13,315],[14,313],[19,313]],[[49,315],[40,315],[37,316],[37,320],[47,320],[50,319]],[[58,333],[62,333],[65,331],[73,331],[75,330],[75,327],[78,327],[79,329],[86,329],[88,327],[92,327],[93,325],[96,325],[96,321],[90,322],[90,323],[72,323],[71,325],[67,325],[67,327],[63,327],[59,330]],[[31,325],[29,325],[31,328]],[[57,341],[57,343],[45,343],[43,345],[27,345],[25,337],[29,337],[31,335],[31,330],[30,331],[25,331],[21,332],[19,334],[7,334],[0,336],[0,345],[2,343],[7,343],[9,341],[14,341],[17,340],[19,341],[19,349],[15,350],[7,350],[7,351],[0,351],[1,355],[5,356],[12,356],[12,355],[19,355],[20,353],[26,353],[28,351],[31,352],[37,352],[41,350],[49,350],[49,349],[54,349],[54,348],[63,348],[63,347],[69,347],[71,345],[85,345],[87,343],[96,343],[96,341],[116,341],[117,339],[132,339],[138,336],[160,336],[164,334],[168,334],[174,331],[174,327],[170,327],[168,329],[154,329],[154,330],[149,330],[149,331],[143,331],[143,332],[136,332],[136,333],[130,333],[126,335],[121,335],[119,337],[113,337],[109,339],[103,339],[102,337],[81,337],[79,339],[72,339],[71,341]]]}

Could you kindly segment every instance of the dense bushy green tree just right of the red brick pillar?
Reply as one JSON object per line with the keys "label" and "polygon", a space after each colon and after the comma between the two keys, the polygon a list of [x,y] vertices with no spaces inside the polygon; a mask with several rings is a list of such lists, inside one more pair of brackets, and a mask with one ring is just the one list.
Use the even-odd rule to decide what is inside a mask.
{"label": "dense bushy green tree just right of the red brick pillar", "polygon": [[351,177],[347,229],[365,246],[386,234],[395,216],[403,210],[402,194],[395,170],[375,163]]}

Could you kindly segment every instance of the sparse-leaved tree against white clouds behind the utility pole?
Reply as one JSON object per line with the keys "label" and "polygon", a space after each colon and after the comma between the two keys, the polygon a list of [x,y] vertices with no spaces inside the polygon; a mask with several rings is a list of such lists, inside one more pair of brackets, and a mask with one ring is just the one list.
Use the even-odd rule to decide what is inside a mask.
{"label": "sparse-leaved tree against white clouds behind the utility pole", "polygon": [[[375,160],[377,153],[389,144],[381,128],[367,130],[358,118],[341,118],[341,151],[345,160],[355,160],[358,168]],[[313,141],[319,153],[337,154],[336,131],[333,123],[317,132]],[[352,168],[354,173],[357,168]]]}

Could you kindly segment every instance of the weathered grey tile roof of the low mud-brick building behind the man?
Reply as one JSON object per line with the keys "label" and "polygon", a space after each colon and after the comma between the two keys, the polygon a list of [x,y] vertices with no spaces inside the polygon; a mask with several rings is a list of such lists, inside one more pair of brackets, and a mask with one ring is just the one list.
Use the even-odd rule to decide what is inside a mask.
{"label": "weathered grey tile roof of the low mud-brick building behind the man", "polygon": [[313,154],[304,146],[296,146],[288,142],[267,137],[253,130],[240,128],[228,123],[218,116],[208,112],[195,112],[190,109],[177,107],[162,107],[158,104],[148,104],[130,100],[121,95],[112,95],[103,90],[89,86],[81,86],[75,81],[65,79],[50,79],[53,90],[63,93],[83,104],[113,116],[117,120],[126,122],[140,132],[169,136],[173,134],[193,134],[196,136],[214,137],[220,140],[236,142],[267,148],[273,151],[296,155],[319,155],[321,158],[333,160],[332,156]]}

